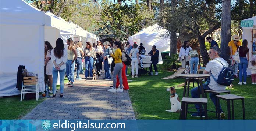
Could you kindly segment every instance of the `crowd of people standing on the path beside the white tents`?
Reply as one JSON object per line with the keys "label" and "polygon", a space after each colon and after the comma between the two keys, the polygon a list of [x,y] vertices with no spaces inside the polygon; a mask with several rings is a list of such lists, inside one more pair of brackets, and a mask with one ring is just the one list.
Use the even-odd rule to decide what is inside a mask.
{"label": "crowd of people standing on the path beside the white tents", "polygon": [[[64,43],[61,38],[56,40],[56,47],[53,48],[48,41],[45,41],[45,70],[47,78],[49,79],[49,92],[53,93],[53,98],[56,97],[56,85],[58,74],[60,74],[60,97],[65,97],[63,94],[64,85],[68,87],[74,86],[74,79],[76,81],[82,80],[80,77],[84,73],[85,79],[93,77],[93,68],[101,74],[102,64],[104,65],[105,77],[104,80],[113,79],[113,86],[108,90],[109,92],[122,92],[129,90],[127,81],[128,65],[122,61],[122,54],[128,54],[131,57],[131,72],[132,78],[137,78],[139,74],[139,54],[145,54],[145,48],[141,43],[138,47],[137,43],[133,45],[129,42],[121,43],[119,41],[104,42],[97,41],[91,44],[85,43],[83,47],[82,41],[74,42],[72,38],[67,39],[67,49],[64,48]],[[152,46],[152,50],[148,53],[151,56],[151,61],[154,66],[155,75],[158,75],[157,63],[159,50],[156,46]],[[83,62],[85,63],[85,71],[83,71]],[[76,78],[74,78],[76,64]],[[150,74],[153,75],[152,67]],[[113,75],[111,77],[111,72]],[[68,82],[64,84],[65,75]]]}

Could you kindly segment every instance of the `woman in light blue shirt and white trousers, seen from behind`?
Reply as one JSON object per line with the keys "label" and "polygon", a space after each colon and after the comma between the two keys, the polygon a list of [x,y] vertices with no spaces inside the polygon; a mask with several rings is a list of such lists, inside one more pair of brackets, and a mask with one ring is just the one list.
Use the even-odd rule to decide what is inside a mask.
{"label": "woman in light blue shirt and white trousers, seen from behind", "polygon": [[138,77],[139,74],[139,50],[137,49],[138,45],[134,44],[132,46],[133,48],[130,51],[130,56],[132,59],[132,78],[134,78],[134,68],[136,70],[136,75],[135,77]]}

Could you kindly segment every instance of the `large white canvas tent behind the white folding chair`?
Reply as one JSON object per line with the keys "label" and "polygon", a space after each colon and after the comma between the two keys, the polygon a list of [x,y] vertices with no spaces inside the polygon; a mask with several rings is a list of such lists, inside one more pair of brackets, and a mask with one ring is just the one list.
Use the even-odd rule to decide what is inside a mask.
{"label": "large white canvas tent behind the white folding chair", "polygon": [[38,74],[44,89],[44,32],[51,27],[45,22],[50,17],[23,0],[1,0],[0,16],[0,96],[21,94],[16,88],[19,65]]}

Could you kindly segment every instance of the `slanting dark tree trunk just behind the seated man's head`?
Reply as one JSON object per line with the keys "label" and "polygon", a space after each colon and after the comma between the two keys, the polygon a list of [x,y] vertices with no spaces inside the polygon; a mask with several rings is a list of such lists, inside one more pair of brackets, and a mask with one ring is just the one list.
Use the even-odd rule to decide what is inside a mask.
{"label": "slanting dark tree trunk just behind the seated man's head", "polygon": [[200,45],[200,54],[203,57],[203,67],[205,67],[207,65],[207,63],[209,62],[208,52],[205,48],[205,37],[198,35],[197,38],[198,38],[199,45]]}

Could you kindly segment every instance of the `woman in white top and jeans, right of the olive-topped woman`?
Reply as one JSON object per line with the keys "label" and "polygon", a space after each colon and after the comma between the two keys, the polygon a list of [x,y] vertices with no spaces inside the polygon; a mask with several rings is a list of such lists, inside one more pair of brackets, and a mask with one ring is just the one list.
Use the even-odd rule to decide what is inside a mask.
{"label": "woman in white top and jeans, right of the olive-topped woman", "polygon": [[83,47],[82,47],[82,41],[77,42],[77,78],[75,80],[82,80],[82,78],[79,76],[80,70],[82,68],[82,58],[83,58]]}

